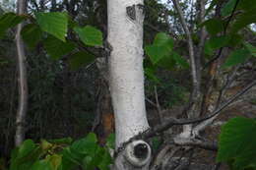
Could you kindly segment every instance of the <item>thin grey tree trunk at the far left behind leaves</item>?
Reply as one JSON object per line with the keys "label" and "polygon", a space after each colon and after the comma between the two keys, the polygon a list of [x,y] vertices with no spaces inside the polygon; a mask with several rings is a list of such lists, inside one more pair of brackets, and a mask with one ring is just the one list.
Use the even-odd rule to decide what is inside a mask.
{"label": "thin grey tree trunk at the far left behind leaves", "polygon": [[[17,1],[17,13],[19,15],[25,14],[27,2],[26,0]],[[19,106],[16,116],[16,134],[15,145],[20,145],[25,138],[25,118],[28,107],[28,84],[26,71],[26,57],[24,42],[21,37],[22,24],[19,24],[16,32],[16,46],[17,46],[17,65],[18,65],[18,86],[19,86]]]}

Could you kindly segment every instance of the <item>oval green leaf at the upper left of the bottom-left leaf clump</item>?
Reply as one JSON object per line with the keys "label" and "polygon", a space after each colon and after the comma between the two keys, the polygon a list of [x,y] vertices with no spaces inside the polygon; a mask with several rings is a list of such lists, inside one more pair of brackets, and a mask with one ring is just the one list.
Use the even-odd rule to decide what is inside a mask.
{"label": "oval green leaf at the upper left of the bottom-left leaf clump", "polygon": [[19,147],[18,158],[27,156],[28,154],[30,154],[32,152],[32,150],[34,148],[35,148],[35,143],[32,142],[32,140],[26,140]]}

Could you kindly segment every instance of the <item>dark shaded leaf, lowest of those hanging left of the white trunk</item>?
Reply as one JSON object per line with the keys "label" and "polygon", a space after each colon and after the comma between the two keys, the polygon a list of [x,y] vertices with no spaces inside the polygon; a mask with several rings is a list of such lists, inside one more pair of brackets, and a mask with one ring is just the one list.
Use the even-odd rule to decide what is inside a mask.
{"label": "dark shaded leaf, lowest of those hanging left of the white trunk", "polygon": [[85,67],[96,60],[96,57],[86,51],[79,51],[71,56],[69,59],[69,65],[72,70]]}

